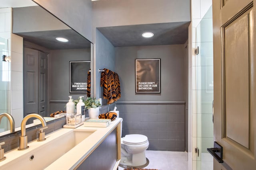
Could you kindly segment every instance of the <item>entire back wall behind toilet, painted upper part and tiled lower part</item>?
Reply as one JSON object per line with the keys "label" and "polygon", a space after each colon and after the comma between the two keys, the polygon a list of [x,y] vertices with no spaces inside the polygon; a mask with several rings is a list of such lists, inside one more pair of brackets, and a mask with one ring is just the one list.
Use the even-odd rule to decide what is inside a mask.
{"label": "entire back wall behind toilet, painted upper part and tiled lower part", "polygon": [[[186,72],[184,45],[116,47],[116,72],[121,99],[117,110],[123,121],[123,135],[142,134],[149,150],[185,150]],[[161,93],[135,93],[135,59],[160,58]],[[147,103],[148,102],[148,103]],[[152,103],[153,102],[153,103]],[[166,102],[166,103],[157,103]]]}

